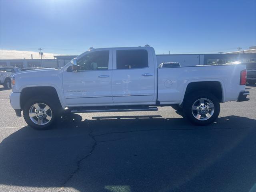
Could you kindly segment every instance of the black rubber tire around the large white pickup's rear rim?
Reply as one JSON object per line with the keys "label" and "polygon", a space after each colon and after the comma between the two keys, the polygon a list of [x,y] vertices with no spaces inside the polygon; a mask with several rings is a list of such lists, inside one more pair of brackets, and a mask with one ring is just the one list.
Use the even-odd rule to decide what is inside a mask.
{"label": "black rubber tire around the large white pickup's rear rim", "polygon": [[[213,114],[207,120],[198,120],[193,115],[193,112],[196,112],[196,111],[193,110],[193,112],[192,112],[193,104],[201,98],[206,98],[207,100],[210,100],[214,104],[214,110],[212,110]],[[186,96],[186,98],[184,100],[183,113],[184,113],[185,118],[187,118],[192,124],[208,125],[208,124],[211,124],[212,122],[214,122],[214,120],[216,120],[216,118],[220,114],[220,102],[218,101],[216,96],[214,96],[210,92],[193,92],[193,93],[189,94],[188,96]],[[200,117],[199,117],[199,119],[200,119]]]}

